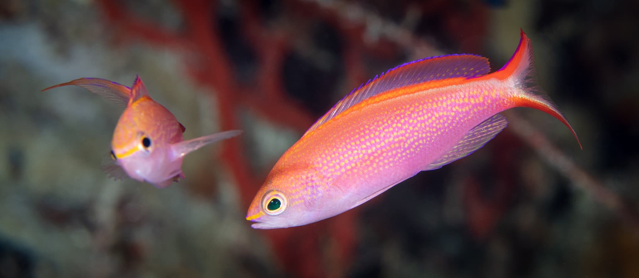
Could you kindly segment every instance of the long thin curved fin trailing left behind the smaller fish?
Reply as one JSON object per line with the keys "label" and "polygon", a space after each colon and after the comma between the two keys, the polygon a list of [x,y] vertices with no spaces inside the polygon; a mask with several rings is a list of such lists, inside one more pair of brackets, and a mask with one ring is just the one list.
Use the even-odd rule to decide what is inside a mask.
{"label": "long thin curved fin trailing left behind the smaller fish", "polygon": [[63,84],[58,84],[51,86],[47,89],[43,89],[42,91],[47,91],[49,89],[53,89],[56,87],[62,87],[66,85],[76,85],[78,87],[82,87],[84,89],[89,90],[89,92],[93,92],[98,96],[115,103],[120,107],[127,107],[129,94],[131,89],[125,85],[112,82],[102,78],[79,78],[73,81],[69,81]]}

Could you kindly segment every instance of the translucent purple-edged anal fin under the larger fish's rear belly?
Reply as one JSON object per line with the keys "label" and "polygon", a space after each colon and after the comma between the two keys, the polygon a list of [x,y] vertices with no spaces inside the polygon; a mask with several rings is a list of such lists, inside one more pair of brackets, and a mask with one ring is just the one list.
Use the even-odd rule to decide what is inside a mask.
{"label": "translucent purple-edged anal fin under the larger fish's rear belly", "polygon": [[454,145],[454,147],[442,157],[428,165],[424,170],[435,170],[452,163],[452,161],[472,154],[475,150],[478,150],[488,141],[495,138],[495,135],[504,130],[507,125],[508,121],[506,121],[506,117],[501,114],[495,114],[493,117],[488,118],[473,129],[470,129],[459,143]]}

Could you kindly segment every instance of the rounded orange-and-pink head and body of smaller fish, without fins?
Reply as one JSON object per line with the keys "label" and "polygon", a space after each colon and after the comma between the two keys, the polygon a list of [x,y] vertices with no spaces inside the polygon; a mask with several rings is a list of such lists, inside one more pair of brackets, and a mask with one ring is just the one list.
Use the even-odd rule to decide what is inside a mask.
{"label": "rounded orange-and-pink head and body of smaller fish, without fins", "polygon": [[181,174],[183,157],[171,143],[183,140],[180,123],[164,106],[143,97],[129,105],[116,125],[111,158],[132,179],[166,187]]}

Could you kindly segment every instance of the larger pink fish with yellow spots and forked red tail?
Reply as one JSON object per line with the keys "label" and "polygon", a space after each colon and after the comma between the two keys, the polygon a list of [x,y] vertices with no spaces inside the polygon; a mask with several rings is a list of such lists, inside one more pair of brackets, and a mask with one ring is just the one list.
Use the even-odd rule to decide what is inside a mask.
{"label": "larger pink fish with yellow spots and forked red tail", "polygon": [[[416,173],[468,156],[506,127],[509,108],[566,117],[535,87],[530,40],[505,66],[468,54],[390,69],[351,92],[277,161],[247,213],[253,228],[314,223],[357,207]],[[580,144],[579,139],[577,142]]]}

